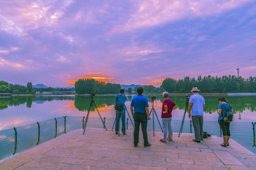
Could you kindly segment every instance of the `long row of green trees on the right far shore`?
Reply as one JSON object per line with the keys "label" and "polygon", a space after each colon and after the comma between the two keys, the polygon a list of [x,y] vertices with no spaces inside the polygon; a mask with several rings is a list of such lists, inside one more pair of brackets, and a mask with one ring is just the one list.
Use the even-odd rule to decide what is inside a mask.
{"label": "long row of green trees on the right far shore", "polygon": [[256,77],[244,79],[236,76],[202,77],[198,79],[185,77],[184,79],[166,78],[162,82],[165,91],[171,93],[188,93],[192,87],[198,87],[201,93],[238,93],[256,92]]}

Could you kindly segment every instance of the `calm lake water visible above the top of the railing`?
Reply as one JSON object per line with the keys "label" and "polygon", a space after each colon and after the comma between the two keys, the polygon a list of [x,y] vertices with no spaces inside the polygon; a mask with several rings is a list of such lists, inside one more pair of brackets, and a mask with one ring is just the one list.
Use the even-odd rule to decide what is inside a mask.
{"label": "calm lake water visible above the top of the railing", "polygon": [[[129,107],[132,97],[127,96]],[[151,96],[146,96],[151,101]],[[206,98],[205,121],[217,121],[218,98],[220,96],[204,96]],[[173,120],[181,120],[185,109],[185,96],[171,96],[178,106],[173,111]],[[256,121],[256,96],[226,96],[227,101],[233,106],[235,112],[234,122],[255,122]],[[163,99],[156,96],[154,106],[156,113],[160,116]],[[114,96],[96,96],[95,103],[102,117],[114,118]],[[90,105],[90,96],[12,96],[0,98],[0,130],[28,125],[63,115],[84,116]],[[152,103],[149,104],[151,109]],[[95,117],[97,111],[92,108],[90,117]],[[186,116],[186,120],[189,120]]]}

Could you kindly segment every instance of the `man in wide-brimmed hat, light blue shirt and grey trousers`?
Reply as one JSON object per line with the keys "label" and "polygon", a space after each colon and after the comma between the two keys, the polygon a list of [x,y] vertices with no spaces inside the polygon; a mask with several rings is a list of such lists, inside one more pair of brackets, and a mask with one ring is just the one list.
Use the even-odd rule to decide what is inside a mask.
{"label": "man in wide-brimmed hat, light blue shirt and grey trousers", "polygon": [[203,96],[198,94],[199,90],[197,87],[193,87],[191,92],[193,95],[189,99],[188,118],[191,118],[192,115],[192,123],[196,138],[193,141],[201,142],[201,140],[203,140],[203,112],[206,108],[206,101]]}

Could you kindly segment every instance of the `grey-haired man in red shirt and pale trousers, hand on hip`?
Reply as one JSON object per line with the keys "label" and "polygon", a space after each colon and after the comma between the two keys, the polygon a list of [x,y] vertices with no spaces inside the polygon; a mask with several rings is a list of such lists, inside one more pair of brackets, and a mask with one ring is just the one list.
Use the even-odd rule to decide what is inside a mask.
{"label": "grey-haired man in red shirt and pale trousers, hand on hip", "polygon": [[162,118],[162,127],[164,130],[164,137],[160,140],[161,142],[166,143],[166,137],[167,137],[167,132],[168,132],[168,140],[170,142],[173,142],[173,132],[171,129],[171,111],[173,111],[176,108],[176,104],[171,101],[169,98],[169,93],[167,91],[164,91],[163,93],[163,98],[164,98],[164,102],[163,102],[163,107],[162,107],[162,111],[161,111],[161,118]]}

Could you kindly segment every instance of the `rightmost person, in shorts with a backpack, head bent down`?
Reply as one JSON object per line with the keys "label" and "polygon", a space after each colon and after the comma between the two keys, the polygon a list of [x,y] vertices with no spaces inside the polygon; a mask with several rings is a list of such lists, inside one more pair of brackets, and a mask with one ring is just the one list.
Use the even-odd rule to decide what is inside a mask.
{"label": "rightmost person, in shorts with a backpack, head bent down", "polygon": [[218,123],[223,131],[223,143],[220,144],[223,147],[229,146],[230,139],[230,122],[233,120],[233,109],[230,104],[225,100],[225,97],[218,99],[220,105],[218,106]]}

